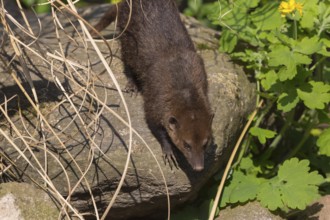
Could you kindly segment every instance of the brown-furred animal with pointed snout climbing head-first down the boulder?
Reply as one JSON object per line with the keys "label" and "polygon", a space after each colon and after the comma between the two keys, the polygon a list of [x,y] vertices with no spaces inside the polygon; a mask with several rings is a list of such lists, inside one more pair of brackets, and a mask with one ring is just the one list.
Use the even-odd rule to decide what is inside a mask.
{"label": "brown-furred animal with pointed snout climbing head-first down the boulder", "polygon": [[[118,4],[125,73],[142,93],[146,121],[165,158],[170,163],[174,160],[173,143],[193,169],[200,171],[212,136],[203,60],[173,0],[132,0],[130,20],[127,2]],[[116,6],[96,28],[101,30],[114,21],[114,13]]]}

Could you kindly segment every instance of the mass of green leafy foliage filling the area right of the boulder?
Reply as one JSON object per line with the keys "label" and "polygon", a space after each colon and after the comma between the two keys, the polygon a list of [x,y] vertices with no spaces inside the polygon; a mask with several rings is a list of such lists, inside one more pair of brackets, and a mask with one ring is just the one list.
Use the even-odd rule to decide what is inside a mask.
{"label": "mass of green leafy foliage filling the area right of the boulder", "polygon": [[[28,7],[45,1],[22,0]],[[184,10],[221,31],[219,50],[244,66],[256,82],[257,103],[265,101],[241,146],[219,210],[257,200],[292,215],[330,192],[330,0],[297,0],[302,14],[294,10],[285,17],[280,3],[188,0]],[[221,177],[173,219],[206,219]]]}

